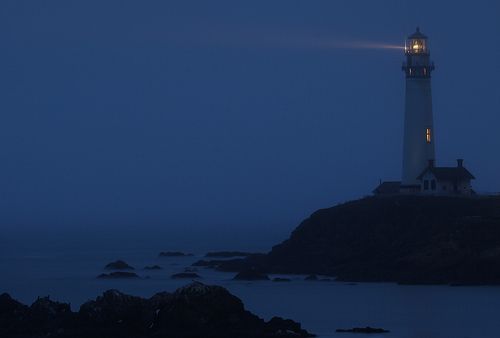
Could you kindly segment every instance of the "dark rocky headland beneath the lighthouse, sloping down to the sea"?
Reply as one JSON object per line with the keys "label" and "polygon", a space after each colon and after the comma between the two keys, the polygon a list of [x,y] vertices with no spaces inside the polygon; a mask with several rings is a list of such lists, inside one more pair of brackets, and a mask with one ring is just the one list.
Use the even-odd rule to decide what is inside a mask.
{"label": "dark rocky headland beneath the lighthouse, sloping down to the sea", "polygon": [[203,265],[353,282],[500,284],[500,196],[367,197],[316,211],[268,254]]}

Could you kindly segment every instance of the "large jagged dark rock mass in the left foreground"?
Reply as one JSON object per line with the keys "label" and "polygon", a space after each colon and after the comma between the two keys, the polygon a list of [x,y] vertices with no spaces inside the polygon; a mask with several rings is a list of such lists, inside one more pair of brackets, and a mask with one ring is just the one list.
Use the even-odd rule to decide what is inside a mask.
{"label": "large jagged dark rock mass in the left foreground", "polygon": [[193,283],[149,299],[104,292],[72,312],[68,304],[38,299],[31,307],[0,295],[0,337],[136,338],[308,337],[299,323],[265,322],[246,311],[240,299],[219,286]]}

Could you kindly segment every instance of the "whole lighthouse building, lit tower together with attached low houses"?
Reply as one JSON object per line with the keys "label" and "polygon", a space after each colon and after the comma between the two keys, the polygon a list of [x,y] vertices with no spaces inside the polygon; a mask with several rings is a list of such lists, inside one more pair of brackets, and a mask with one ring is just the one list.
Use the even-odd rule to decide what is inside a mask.
{"label": "whole lighthouse building, lit tower together with attached low houses", "polygon": [[375,195],[423,194],[471,196],[475,177],[457,159],[456,167],[435,165],[434,123],[432,118],[431,73],[427,37],[417,31],[405,44],[406,77],[403,137],[403,175],[401,181],[380,180]]}

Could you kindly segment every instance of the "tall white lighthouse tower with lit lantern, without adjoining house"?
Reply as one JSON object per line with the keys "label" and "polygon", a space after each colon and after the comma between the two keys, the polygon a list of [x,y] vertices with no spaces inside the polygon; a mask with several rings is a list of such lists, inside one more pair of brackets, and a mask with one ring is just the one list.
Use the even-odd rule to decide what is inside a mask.
{"label": "tall white lighthouse tower with lit lantern, without adjoining house", "polygon": [[403,140],[402,192],[417,192],[417,177],[434,161],[434,126],[432,118],[431,73],[434,63],[430,60],[427,37],[417,31],[410,35],[405,45],[406,74],[405,118]]}

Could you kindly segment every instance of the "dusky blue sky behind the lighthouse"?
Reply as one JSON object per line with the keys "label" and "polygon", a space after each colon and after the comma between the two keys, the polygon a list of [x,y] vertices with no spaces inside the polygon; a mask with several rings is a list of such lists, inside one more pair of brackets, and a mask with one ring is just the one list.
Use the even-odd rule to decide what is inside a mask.
{"label": "dusky blue sky behind the lighthouse", "polygon": [[400,177],[403,55],[347,47],[417,25],[438,164],[500,191],[499,7],[4,0],[1,226],[288,231],[369,194]]}

